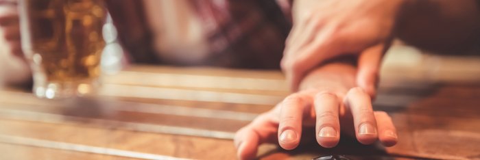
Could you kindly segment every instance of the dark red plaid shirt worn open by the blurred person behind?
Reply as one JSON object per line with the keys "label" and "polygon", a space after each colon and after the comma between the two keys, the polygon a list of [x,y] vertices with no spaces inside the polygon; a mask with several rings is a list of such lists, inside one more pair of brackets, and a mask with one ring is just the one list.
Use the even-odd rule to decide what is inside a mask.
{"label": "dark red plaid shirt worn open by the blurred person behind", "polygon": [[[206,29],[210,57],[200,65],[279,68],[291,26],[289,1],[191,0]],[[136,63],[169,64],[156,57],[143,1],[108,0],[119,39]]]}

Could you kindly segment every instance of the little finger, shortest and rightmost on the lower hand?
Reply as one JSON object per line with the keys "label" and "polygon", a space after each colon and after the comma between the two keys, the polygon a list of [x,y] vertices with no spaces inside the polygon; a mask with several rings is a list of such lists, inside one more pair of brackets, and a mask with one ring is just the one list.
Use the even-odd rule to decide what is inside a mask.
{"label": "little finger, shortest and rightmost on the lower hand", "polygon": [[379,129],[379,139],[383,146],[394,146],[398,137],[392,118],[385,111],[375,111],[376,126]]}

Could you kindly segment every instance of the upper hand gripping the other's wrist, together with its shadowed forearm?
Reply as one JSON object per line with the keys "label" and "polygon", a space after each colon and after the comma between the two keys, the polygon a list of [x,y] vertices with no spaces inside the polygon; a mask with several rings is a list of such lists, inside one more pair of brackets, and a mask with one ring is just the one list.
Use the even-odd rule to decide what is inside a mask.
{"label": "upper hand gripping the other's wrist, together with its shadowed forearm", "polygon": [[480,42],[476,0],[298,0],[292,13],[293,28],[281,66],[293,91],[318,65],[355,55],[357,85],[374,96],[381,59],[394,37],[448,54],[478,49]]}

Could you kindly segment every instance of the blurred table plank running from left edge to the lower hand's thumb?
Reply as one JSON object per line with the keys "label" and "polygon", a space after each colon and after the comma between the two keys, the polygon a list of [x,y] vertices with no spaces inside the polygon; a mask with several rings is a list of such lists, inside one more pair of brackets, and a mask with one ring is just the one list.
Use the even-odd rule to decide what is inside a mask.
{"label": "blurred table plank running from left edge to the lower hand's thumb", "polygon": [[[0,115],[24,120],[56,120],[55,122],[101,121],[180,126],[191,129],[235,132],[257,114],[221,109],[202,109],[177,105],[130,103],[84,98],[55,105],[15,104],[0,102]],[[112,124],[112,125],[113,125]],[[98,124],[101,125],[101,124]]]}

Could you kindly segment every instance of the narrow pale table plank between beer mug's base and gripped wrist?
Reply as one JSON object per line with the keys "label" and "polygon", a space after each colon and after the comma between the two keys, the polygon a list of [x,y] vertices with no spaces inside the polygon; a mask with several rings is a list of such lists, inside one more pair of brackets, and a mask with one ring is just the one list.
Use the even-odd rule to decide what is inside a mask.
{"label": "narrow pale table plank between beer mug's base and gripped wrist", "polygon": [[117,75],[103,77],[104,83],[155,86],[160,88],[197,88],[236,90],[237,92],[288,92],[287,83],[283,79],[254,79],[247,77],[180,75],[151,72],[119,72]]}

